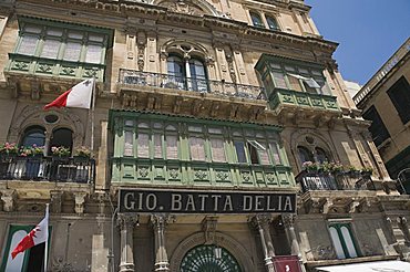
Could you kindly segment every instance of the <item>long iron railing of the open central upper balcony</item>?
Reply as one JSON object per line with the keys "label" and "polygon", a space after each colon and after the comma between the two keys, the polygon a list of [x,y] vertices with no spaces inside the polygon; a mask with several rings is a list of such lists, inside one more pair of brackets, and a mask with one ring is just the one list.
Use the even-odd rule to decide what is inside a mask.
{"label": "long iron railing of the open central upper balcony", "polygon": [[248,100],[265,100],[264,88],[253,85],[242,85],[225,81],[209,81],[206,79],[184,77],[168,74],[120,70],[119,83],[126,86],[148,86],[212,93],[214,95],[240,97]]}

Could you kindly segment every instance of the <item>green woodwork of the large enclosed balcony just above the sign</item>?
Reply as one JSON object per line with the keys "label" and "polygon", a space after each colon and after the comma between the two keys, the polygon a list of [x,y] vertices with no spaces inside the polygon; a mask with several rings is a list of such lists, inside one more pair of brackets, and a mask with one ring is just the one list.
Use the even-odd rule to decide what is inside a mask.
{"label": "green woodwork of the large enclosed balcony just above the sign", "polygon": [[[178,123],[174,121],[178,119]],[[247,124],[242,127],[240,124],[232,122],[215,122],[209,123],[203,119],[193,118],[163,118],[158,114],[142,114],[121,111],[111,111],[109,127],[112,130],[114,138],[114,151],[112,161],[112,182],[132,182],[132,184],[175,184],[185,186],[211,186],[211,187],[291,187],[295,186],[290,167],[285,155],[281,143],[278,143],[280,136],[276,126],[265,126],[256,124]],[[133,122],[130,122],[133,121]],[[131,123],[131,126],[125,126],[125,122]],[[144,123],[146,127],[141,127],[139,124]],[[158,128],[154,128],[154,124]],[[222,126],[223,124],[224,126]],[[168,125],[178,127],[178,159],[167,159],[166,153],[166,135],[165,129]],[[189,132],[188,127],[195,125],[202,127],[202,133]],[[236,126],[229,126],[236,125]],[[249,129],[249,125],[253,129]],[[160,128],[161,127],[161,128]],[[208,128],[221,128],[218,137],[224,140],[224,149],[226,161],[214,161],[212,157],[211,137],[215,137],[208,133]],[[212,130],[217,132],[217,130]],[[124,155],[124,135],[133,134],[134,145],[131,156]],[[137,157],[137,135],[139,133],[150,135],[150,157]],[[238,135],[236,135],[238,134]],[[239,135],[240,134],[240,135]],[[246,136],[246,135],[250,136]],[[163,157],[154,157],[154,135],[161,135]],[[189,135],[204,138],[205,160],[192,160],[189,154]],[[252,136],[253,135],[253,136]],[[256,135],[259,135],[257,138]],[[270,160],[267,165],[253,165],[248,150],[246,157],[248,163],[237,163],[234,140],[246,143],[248,139],[262,140],[268,151]],[[270,146],[277,148],[278,156],[281,163],[275,165],[274,150]],[[260,161],[260,154],[258,154]],[[269,174],[269,175],[267,175]],[[274,175],[274,176],[273,176]]]}

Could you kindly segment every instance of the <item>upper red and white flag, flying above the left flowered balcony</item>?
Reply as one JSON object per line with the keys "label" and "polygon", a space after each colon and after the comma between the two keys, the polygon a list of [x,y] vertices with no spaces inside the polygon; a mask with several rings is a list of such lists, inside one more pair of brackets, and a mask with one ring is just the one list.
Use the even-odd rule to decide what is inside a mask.
{"label": "upper red and white flag, flying above the left flowered balcony", "polygon": [[50,104],[44,106],[44,109],[50,107],[82,107],[90,108],[91,95],[94,86],[94,79],[89,79],[80,82],[62,95],[57,97]]}

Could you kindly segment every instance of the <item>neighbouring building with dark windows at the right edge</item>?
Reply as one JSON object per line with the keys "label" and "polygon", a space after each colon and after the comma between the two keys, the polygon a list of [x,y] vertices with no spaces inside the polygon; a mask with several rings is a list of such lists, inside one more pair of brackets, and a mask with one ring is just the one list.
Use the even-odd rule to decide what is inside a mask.
{"label": "neighbouring building with dark windows at the right edge", "polygon": [[[409,190],[409,39],[355,95],[390,176]],[[400,174],[401,172],[401,174]],[[400,175],[399,175],[400,174]]]}

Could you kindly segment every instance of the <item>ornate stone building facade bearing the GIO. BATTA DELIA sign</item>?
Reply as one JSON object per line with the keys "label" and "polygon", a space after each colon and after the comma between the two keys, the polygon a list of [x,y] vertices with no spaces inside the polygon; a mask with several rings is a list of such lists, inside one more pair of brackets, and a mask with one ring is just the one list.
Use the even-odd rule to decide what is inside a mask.
{"label": "ornate stone building facade bearing the GIO. BATTA DELIA sign", "polygon": [[[10,252],[45,203],[50,271],[331,271],[408,257],[410,199],[304,1],[0,8],[1,271],[41,271],[44,245]],[[92,77],[92,109],[43,111]]]}

